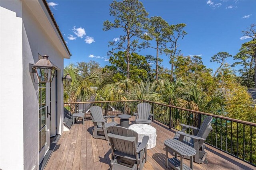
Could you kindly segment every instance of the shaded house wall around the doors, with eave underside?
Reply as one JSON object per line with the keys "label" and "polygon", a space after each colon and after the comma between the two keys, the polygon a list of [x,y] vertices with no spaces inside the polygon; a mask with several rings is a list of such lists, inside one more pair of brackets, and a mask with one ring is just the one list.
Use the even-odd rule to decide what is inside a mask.
{"label": "shaded house wall around the doors, with eave underside", "polygon": [[[23,126],[24,126],[24,169],[34,166],[38,169],[38,85],[34,83],[29,63],[38,61],[40,55],[48,55],[58,70],[58,123],[63,126],[63,57],[51,38],[33,16],[28,6],[22,4],[22,43],[23,43]],[[36,76],[36,75],[34,75]],[[53,101],[55,103],[55,101]],[[62,106],[62,107],[60,107]],[[62,110],[60,109],[62,108]],[[55,111],[53,111],[55,113]],[[62,118],[60,117],[62,115]],[[53,115],[54,116],[54,115]],[[55,128],[55,127],[54,127]],[[61,134],[63,127],[58,127]],[[46,133],[50,133],[49,131]],[[31,140],[33,139],[33,140]]]}

